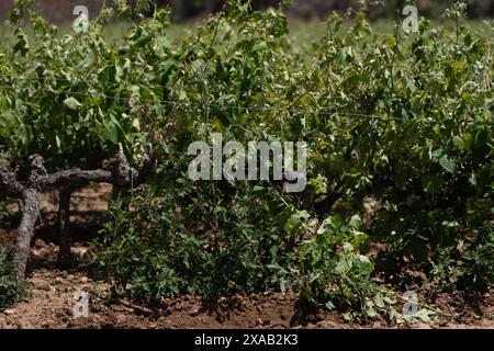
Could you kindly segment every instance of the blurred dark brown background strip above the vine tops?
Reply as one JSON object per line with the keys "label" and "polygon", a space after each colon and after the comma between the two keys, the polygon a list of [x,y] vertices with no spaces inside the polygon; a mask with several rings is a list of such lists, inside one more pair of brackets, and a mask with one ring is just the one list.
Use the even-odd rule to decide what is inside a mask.
{"label": "blurred dark brown background strip above the vine tops", "polygon": [[[130,0],[132,2],[133,0]],[[209,13],[218,11],[226,0],[158,0],[159,5],[170,5],[173,20],[177,22],[201,19]],[[278,0],[252,0],[255,9],[278,7]],[[287,8],[291,18],[301,20],[321,20],[333,11],[344,12],[349,7],[357,8],[357,0],[294,0]],[[395,18],[403,9],[404,0],[375,1],[369,11],[371,20]],[[429,19],[438,18],[442,11],[456,0],[417,0],[419,14]],[[469,16],[484,19],[494,16],[494,0],[468,0]],[[91,16],[98,15],[103,0],[37,0],[36,7],[44,16],[53,23],[65,23],[74,20],[72,10],[76,5],[86,5]],[[0,0],[0,22],[8,19],[13,8],[13,0]]]}

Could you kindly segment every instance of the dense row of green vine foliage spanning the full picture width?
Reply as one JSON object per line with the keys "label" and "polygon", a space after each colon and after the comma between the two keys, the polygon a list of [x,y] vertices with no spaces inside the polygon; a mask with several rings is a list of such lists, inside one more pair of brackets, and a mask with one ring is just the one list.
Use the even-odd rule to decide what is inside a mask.
{"label": "dense row of green vine foliage spanning the full picture width", "polygon": [[[35,37],[18,29],[0,46],[2,155],[64,169],[117,143],[134,165],[153,149],[156,174],[113,204],[96,257],[136,298],[291,290],[372,316],[394,302],[378,274],[398,290],[492,288],[493,43],[462,25],[461,4],[411,35],[375,33],[364,10],[348,32],[329,18],[313,56],[281,12],[237,1],[180,44],[167,10],[121,46],[103,38],[109,11],[65,36],[32,14]],[[305,140],[307,189],[192,182],[188,146],[216,132]]]}

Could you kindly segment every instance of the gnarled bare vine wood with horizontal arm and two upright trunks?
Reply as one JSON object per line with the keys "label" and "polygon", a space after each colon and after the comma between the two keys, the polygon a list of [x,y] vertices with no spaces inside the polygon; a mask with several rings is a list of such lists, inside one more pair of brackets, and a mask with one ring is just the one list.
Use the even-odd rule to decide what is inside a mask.
{"label": "gnarled bare vine wood with horizontal arm and two upright trunks", "polygon": [[15,265],[18,281],[25,280],[30,245],[34,233],[34,226],[40,217],[40,192],[49,188],[60,189],[59,204],[59,262],[70,263],[70,233],[69,233],[69,205],[70,195],[75,188],[86,185],[89,182],[111,183],[115,186],[127,188],[138,185],[149,174],[155,165],[154,157],[147,159],[143,169],[137,172],[131,169],[122,146],[115,159],[103,162],[103,169],[81,170],[71,169],[48,174],[43,166],[43,158],[38,155],[30,157],[31,176],[26,184],[18,182],[15,173],[10,165],[0,161],[0,194],[15,199],[22,199],[24,206],[21,224],[18,228]]}

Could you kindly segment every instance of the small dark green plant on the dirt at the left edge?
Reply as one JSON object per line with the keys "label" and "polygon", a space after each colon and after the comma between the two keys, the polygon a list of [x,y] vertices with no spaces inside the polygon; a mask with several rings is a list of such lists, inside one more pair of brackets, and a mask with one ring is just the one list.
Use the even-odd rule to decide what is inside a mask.
{"label": "small dark green plant on the dirt at the left edge", "polygon": [[25,286],[16,281],[12,254],[0,247],[0,310],[26,296]]}

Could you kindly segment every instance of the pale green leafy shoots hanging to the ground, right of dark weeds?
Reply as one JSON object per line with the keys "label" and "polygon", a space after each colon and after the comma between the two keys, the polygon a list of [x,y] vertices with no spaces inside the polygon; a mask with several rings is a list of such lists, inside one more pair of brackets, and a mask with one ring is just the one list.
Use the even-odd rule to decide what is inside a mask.
{"label": "pale green leafy shoots hanging to the ground, right of dark weeds", "polygon": [[372,261],[358,252],[367,239],[360,226],[358,215],[349,222],[335,215],[323,222],[311,240],[301,244],[302,294],[310,303],[324,301],[328,308],[366,310],[377,285],[370,281]]}

